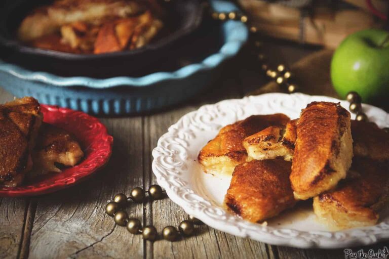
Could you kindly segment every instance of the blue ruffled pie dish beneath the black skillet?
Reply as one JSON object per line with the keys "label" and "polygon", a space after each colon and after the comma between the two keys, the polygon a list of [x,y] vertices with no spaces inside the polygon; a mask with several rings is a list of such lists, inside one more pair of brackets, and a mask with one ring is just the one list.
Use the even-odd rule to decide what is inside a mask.
{"label": "blue ruffled pie dish beneath the black skillet", "polygon": [[[234,4],[225,1],[212,0],[211,7],[217,12],[237,11]],[[204,91],[217,75],[220,65],[235,56],[248,38],[247,27],[239,21],[206,27],[210,30],[208,34],[217,38],[215,51],[204,51],[206,57],[202,58],[195,49],[203,44],[203,49],[207,50],[207,41],[198,44],[196,40],[186,49],[171,50],[172,59],[175,52],[202,58],[176,70],[152,72],[139,77],[97,79],[31,71],[0,60],[0,85],[17,97],[32,96],[44,104],[98,115],[124,115],[160,109]],[[200,36],[195,34],[196,38],[202,38],[204,32],[198,33]]]}

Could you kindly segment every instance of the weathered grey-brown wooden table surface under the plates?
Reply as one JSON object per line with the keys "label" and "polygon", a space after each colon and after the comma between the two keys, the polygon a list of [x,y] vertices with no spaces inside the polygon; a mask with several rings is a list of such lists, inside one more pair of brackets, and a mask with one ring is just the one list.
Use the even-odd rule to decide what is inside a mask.
{"label": "weathered grey-brown wooden table surface under the plates", "polygon": [[[292,64],[317,49],[272,44],[265,48],[274,63]],[[104,213],[107,200],[133,187],[155,183],[151,150],[182,115],[206,103],[243,97],[266,82],[246,48],[224,67],[204,94],[157,113],[101,118],[114,137],[108,165],[90,180],[56,193],[31,198],[0,198],[0,258],[344,258],[343,249],[297,249],[267,245],[200,226],[195,236],[176,242],[148,242],[115,226]],[[0,78],[1,84],[1,78]],[[13,96],[0,88],[0,101]],[[131,217],[159,231],[178,226],[185,212],[165,198],[130,206]],[[375,250],[384,243],[372,246]],[[355,248],[357,251],[360,248]],[[366,250],[367,247],[364,247]]]}

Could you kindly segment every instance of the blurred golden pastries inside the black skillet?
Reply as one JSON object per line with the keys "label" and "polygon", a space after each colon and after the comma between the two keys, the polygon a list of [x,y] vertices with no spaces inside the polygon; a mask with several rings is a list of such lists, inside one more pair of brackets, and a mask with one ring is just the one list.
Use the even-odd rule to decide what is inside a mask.
{"label": "blurred golden pastries inside the black skillet", "polygon": [[41,49],[108,53],[146,45],[163,27],[153,0],[56,0],[27,15],[18,38]]}

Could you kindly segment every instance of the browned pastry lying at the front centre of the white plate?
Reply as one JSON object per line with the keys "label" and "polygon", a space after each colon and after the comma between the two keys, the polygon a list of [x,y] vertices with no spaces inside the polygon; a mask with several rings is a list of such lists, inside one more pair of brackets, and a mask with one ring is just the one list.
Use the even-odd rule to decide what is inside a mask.
{"label": "browned pastry lying at the front centre of the white plate", "polygon": [[279,159],[238,165],[225,204],[230,211],[251,222],[274,217],[296,203],[289,181],[290,170],[291,162]]}

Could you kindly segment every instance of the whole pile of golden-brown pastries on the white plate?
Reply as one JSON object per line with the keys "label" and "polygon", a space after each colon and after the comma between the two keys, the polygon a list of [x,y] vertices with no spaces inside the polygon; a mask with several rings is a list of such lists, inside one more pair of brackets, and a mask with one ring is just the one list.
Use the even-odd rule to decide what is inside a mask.
{"label": "whole pile of golden-brown pastries on the white plate", "polygon": [[255,115],[223,127],[199,153],[205,172],[231,175],[228,209],[263,222],[300,200],[347,229],[375,225],[388,203],[389,134],[351,120],[340,104],[313,102],[298,119]]}

